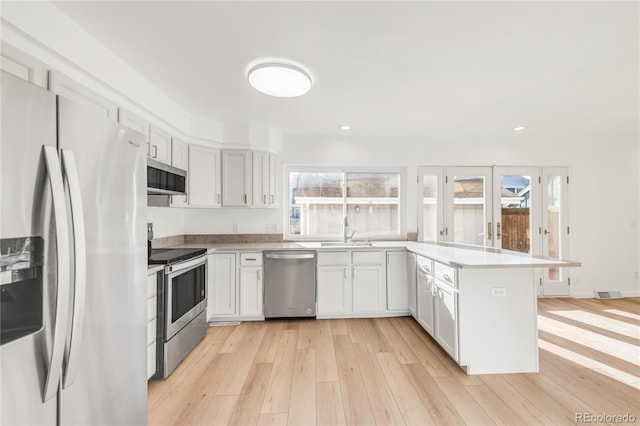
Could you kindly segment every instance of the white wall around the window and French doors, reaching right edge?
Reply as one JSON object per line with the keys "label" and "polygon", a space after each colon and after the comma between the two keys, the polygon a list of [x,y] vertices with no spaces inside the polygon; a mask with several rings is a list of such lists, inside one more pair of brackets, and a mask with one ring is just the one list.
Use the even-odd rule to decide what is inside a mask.
{"label": "white wall around the window and French doors, reaching right edge", "polygon": [[356,140],[331,137],[285,139],[282,164],[405,166],[408,168],[407,231],[417,229],[416,167],[419,165],[569,166],[571,253],[583,266],[572,270],[572,295],[620,289],[640,296],[638,139],[588,135],[537,140],[535,132],[495,140]]}

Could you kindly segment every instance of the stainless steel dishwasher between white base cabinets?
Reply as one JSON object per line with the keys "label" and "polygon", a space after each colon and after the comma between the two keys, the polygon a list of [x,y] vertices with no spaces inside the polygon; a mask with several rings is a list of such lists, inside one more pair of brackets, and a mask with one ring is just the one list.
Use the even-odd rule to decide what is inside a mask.
{"label": "stainless steel dishwasher between white base cabinets", "polygon": [[264,252],[264,317],[316,316],[316,252]]}

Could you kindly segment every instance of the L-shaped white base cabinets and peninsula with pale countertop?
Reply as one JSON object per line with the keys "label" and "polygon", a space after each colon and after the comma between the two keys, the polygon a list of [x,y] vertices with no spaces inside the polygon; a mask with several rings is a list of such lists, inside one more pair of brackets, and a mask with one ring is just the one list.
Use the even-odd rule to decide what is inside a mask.
{"label": "L-shaped white base cabinets and peninsula with pale countertop", "polygon": [[[263,250],[313,249],[318,252],[317,318],[412,315],[467,374],[537,372],[538,274],[544,268],[580,266],[507,250],[407,241],[182,246],[209,251],[209,321],[264,319],[255,311],[242,316],[243,253],[255,258]],[[220,273],[217,256],[225,257],[227,273]],[[359,268],[377,273],[359,280]],[[262,293],[261,283],[256,285],[252,300]],[[259,310],[261,300],[254,304]]]}

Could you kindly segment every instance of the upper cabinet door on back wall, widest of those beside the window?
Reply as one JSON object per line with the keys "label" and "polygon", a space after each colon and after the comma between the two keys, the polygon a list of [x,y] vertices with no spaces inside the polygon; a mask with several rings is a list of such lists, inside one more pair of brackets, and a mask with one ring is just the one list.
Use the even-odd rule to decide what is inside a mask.
{"label": "upper cabinet door on back wall, widest of those beside the window", "polygon": [[222,151],[222,205],[244,207],[251,200],[251,152]]}

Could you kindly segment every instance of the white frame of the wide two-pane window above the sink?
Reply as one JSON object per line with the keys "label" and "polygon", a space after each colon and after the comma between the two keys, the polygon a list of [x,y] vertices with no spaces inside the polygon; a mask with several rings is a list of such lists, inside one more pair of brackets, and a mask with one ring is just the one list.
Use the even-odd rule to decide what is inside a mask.
{"label": "white frame of the wide two-pane window above the sink", "polygon": [[347,173],[397,173],[400,178],[398,189],[398,233],[393,234],[377,234],[367,238],[366,235],[356,234],[354,241],[358,240],[405,240],[406,232],[406,206],[407,206],[407,169],[406,167],[335,167],[335,166],[300,166],[290,165],[284,166],[283,175],[283,194],[286,194],[286,203],[283,203],[283,238],[290,241],[341,241],[342,235],[336,234],[317,234],[317,235],[300,235],[291,234],[289,228],[289,214],[292,208],[290,196],[290,174],[291,173],[340,173],[343,176],[343,193],[342,193],[342,211],[343,215],[347,211],[347,191],[346,176]]}

